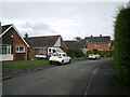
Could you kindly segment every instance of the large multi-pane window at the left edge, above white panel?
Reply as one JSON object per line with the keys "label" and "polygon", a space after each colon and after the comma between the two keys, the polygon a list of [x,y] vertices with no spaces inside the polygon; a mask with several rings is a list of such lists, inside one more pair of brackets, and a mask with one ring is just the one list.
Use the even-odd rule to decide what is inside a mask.
{"label": "large multi-pane window at the left edge, above white panel", "polygon": [[11,54],[11,45],[10,44],[1,44],[0,45],[0,55],[10,55]]}

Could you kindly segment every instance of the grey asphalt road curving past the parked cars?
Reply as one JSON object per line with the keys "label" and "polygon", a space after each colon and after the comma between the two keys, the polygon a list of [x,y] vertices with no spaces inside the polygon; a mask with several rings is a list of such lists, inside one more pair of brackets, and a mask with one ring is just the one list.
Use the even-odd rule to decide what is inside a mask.
{"label": "grey asphalt road curving past the parked cars", "polygon": [[22,74],[3,81],[2,92],[3,95],[84,95],[93,74],[108,61],[112,59],[79,60]]}

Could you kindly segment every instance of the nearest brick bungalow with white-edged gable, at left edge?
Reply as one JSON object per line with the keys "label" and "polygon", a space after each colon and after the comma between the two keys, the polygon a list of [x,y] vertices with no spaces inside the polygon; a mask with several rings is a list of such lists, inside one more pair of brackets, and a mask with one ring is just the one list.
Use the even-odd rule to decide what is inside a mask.
{"label": "nearest brick bungalow with white-edged gable, at left edge", "polygon": [[13,24],[1,26],[0,61],[27,60],[28,43]]}

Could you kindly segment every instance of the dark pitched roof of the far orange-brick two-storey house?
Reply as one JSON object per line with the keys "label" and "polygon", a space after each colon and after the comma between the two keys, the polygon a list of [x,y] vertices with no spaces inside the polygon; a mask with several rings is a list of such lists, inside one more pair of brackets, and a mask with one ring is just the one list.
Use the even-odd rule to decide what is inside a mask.
{"label": "dark pitched roof of the far orange-brick two-storey house", "polygon": [[110,37],[86,37],[84,38],[89,43],[108,43]]}

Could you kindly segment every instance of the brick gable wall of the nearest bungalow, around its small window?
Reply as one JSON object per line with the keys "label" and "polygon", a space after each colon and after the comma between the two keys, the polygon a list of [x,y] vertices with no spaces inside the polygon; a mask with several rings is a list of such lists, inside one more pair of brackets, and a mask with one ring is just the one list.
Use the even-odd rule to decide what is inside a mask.
{"label": "brick gable wall of the nearest bungalow, around its small window", "polygon": [[[11,44],[12,45],[12,54],[14,60],[26,60],[27,59],[27,46],[14,28],[11,28],[2,37],[3,44]],[[16,53],[16,46],[22,45],[25,47],[24,53]]]}

